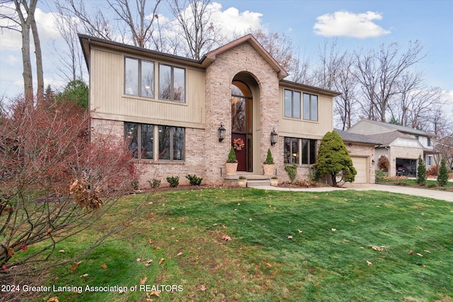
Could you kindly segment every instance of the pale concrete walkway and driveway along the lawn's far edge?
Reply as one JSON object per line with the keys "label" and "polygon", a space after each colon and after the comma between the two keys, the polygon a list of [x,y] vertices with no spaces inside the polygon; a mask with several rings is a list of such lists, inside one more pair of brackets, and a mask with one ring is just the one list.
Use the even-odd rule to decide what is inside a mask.
{"label": "pale concrete walkway and driveway along the lawn's far edge", "polygon": [[335,190],[377,190],[392,193],[409,194],[421,197],[429,197],[434,199],[446,200],[447,202],[453,202],[453,192],[446,192],[440,190],[429,190],[429,189],[418,189],[415,187],[402,187],[396,185],[377,185],[377,184],[354,184],[346,183],[342,187],[309,187],[309,188],[292,188],[292,187],[273,187],[270,185],[266,186],[249,186],[256,187],[257,189],[263,190],[280,190],[280,191],[300,191],[300,192],[328,192]]}

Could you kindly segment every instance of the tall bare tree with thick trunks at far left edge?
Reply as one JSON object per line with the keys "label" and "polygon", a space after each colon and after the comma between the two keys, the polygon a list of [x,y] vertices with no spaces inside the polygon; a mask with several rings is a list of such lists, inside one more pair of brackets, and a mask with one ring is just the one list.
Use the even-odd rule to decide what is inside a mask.
{"label": "tall bare tree with thick trunks at far left edge", "polygon": [[38,28],[35,21],[35,10],[38,0],[13,0],[0,1],[0,5],[6,13],[1,14],[0,18],[8,21],[7,25],[1,28],[16,30],[22,35],[22,62],[23,62],[23,84],[24,93],[27,98],[33,98],[33,74],[30,57],[30,30],[33,33],[33,42],[35,45],[36,72],[38,80],[38,101],[42,100],[44,95],[44,76],[42,72],[42,55]]}

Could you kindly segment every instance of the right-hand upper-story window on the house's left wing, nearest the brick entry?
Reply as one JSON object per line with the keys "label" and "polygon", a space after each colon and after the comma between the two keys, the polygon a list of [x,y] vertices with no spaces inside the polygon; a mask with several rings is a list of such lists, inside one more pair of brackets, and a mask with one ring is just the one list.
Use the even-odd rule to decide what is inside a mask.
{"label": "right-hand upper-story window on the house's left wing, nearest the brick entry", "polygon": [[159,64],[159,99],[185,102],[185,69]]}

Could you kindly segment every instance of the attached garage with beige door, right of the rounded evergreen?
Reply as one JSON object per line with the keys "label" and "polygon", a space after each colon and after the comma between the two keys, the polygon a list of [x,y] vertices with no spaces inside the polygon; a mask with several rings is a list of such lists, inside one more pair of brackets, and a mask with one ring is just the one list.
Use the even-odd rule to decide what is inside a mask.
{"label": "attached garage with beige door, right of the rounded evergreen", "polygon": [[377,159],[374,157],[374,151],[381,143],[360,134],[345,132],[340,129],[334,129],[334,131],[340,134],[341,139],[343,139],[352,159],[352,165],[357,170],[354,182],[376,182],[374,164]]}

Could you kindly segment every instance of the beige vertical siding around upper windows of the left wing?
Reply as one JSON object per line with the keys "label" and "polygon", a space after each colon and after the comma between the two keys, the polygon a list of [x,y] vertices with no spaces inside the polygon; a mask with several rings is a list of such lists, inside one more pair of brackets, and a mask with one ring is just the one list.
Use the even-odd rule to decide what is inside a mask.
{"label": "beige vertical siding around upper windows of the left wing", "polygon": [[[123,54],[104,50],[91,50],[91,54],[91,109],[96,110],[98,117],[182,127],[205,127],[204,71],[185,68],[185,103],[140,98],[124,94]],[[154,91],[157,95],[159,62],[154,62]]]}

